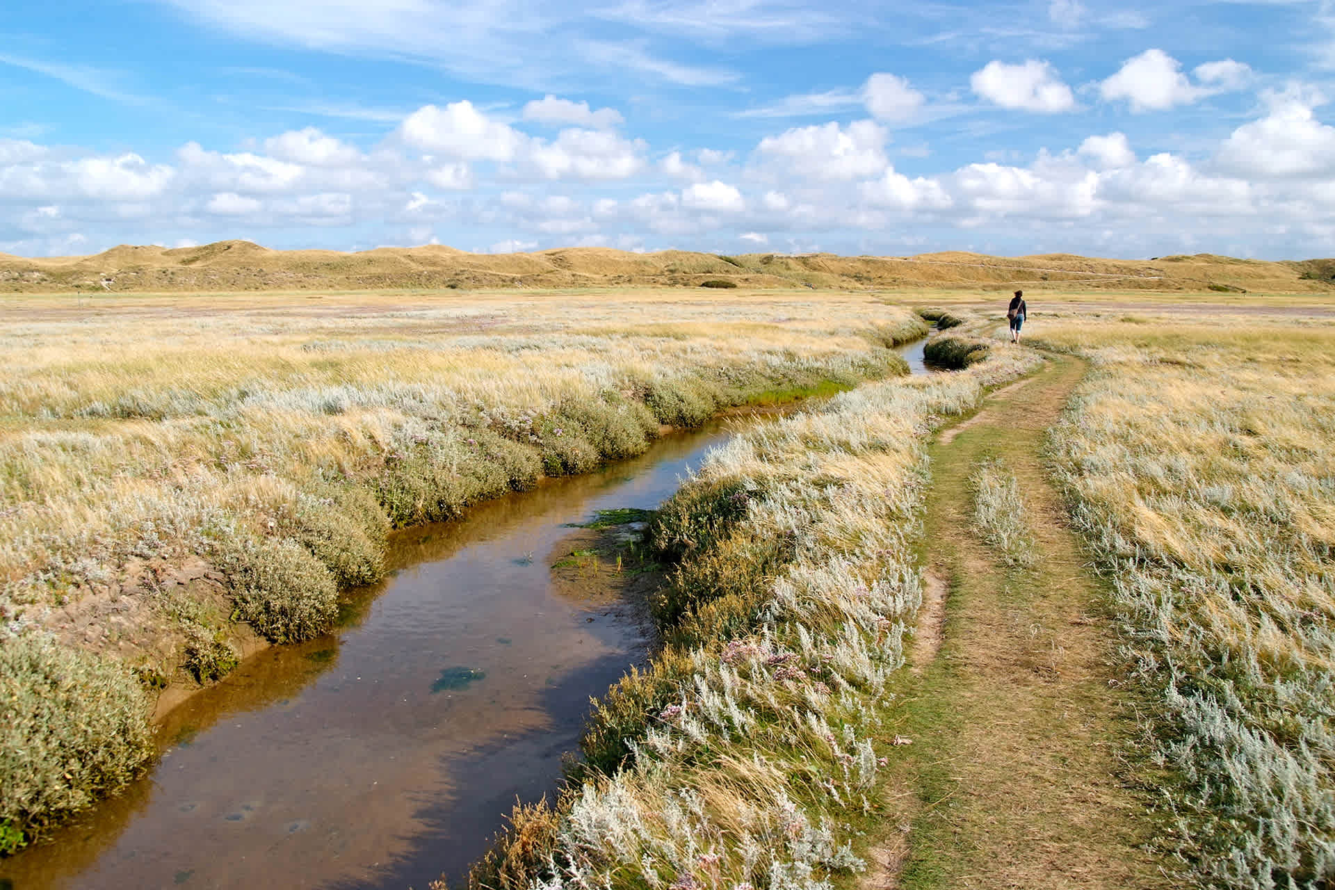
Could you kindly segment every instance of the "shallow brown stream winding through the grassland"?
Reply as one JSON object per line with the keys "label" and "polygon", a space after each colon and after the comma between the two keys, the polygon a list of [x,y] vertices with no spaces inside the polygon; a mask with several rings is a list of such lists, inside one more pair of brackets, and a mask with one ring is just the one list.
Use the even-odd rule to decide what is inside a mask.
{"label": "shallow brown stream winding through the grassland", "polygon": [[[914,374],[922,343],[900,350]],[[0,861],[0,890],[455,883],[517,797],[555,787],[589,697],[649,654],[629,606],[553,584],[570,523],[657,507],[729,430],[761,422],[395,534],[388,578],[348,598],[334,634],[266,650],[176,707],[156,769]]]}

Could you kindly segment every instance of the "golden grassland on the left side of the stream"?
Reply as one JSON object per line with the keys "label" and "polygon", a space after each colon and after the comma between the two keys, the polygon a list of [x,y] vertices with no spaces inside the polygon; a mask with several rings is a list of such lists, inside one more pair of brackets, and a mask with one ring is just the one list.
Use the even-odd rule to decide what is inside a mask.
{"label": "golden grassland on the left side of the stream", "polygon": [[[663,424],[902,374],[890,347],[924,330],[861,298],[112,299],[0,316],[0,622],[154,689],[231,670],[235,622],[327,631],[391,527],[639,454]],[[128,762],[105,721],[11,729],[15,757],[49,730]],[[3,823],[76,809],[43,807]]]}

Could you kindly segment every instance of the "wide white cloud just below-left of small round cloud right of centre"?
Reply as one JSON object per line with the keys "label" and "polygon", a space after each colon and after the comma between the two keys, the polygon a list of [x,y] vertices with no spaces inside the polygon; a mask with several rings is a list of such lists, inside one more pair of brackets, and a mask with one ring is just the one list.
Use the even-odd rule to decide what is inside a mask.
{"label": "wide white cloud just below-left of small round cloud right of centre", "polygon": [[832,121],[766,136],[756,153],[762,164],[806,179],[862,179],[876,176],[889,163],[885,140],[886,132],[876,121],[854,120],[848,127]]}

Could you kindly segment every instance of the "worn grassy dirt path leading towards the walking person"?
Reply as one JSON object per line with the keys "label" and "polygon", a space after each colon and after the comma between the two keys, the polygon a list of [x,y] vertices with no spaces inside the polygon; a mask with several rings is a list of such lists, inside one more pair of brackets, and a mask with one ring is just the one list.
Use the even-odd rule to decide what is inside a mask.
{"label": "worn grassy dirt path leading towards the walking person", "polygon": [[[910,745],[868,890],[1169,886],[1140,849],[1149,817],[1119,781],[1132,726],[1111,683],[1099,582],[1043,467],[1044,435],[1083,374],[1055,358],[932,446],[928,602],[902,717],[886,727]],[[973,531],[968,479],[985,458],[1020,482],[1029,570],[1007,570]]]}

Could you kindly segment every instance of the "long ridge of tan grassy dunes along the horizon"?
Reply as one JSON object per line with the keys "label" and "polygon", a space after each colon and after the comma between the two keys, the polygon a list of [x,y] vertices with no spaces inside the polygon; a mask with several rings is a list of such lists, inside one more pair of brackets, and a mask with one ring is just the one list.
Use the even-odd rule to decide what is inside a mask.
{"label": "long ridge of tan grassy dunes along the horizon", "polygon": [[[721,284],[721,282],[726,284]],[[571,288],[614,286],[893,290],[1060,287],[1144,291],[1335,291],[1335,259],[1263,262],[1212,254],[1107,260],[1047,254],[999,258],[686,251],[630,254],[558,248],[466,254],[438,244],[356,254],[272,251],[251,242],[202,247],[113,247],[92,256],[25,259],[0,254],[0,292],[180,292],[382,288]]]}

